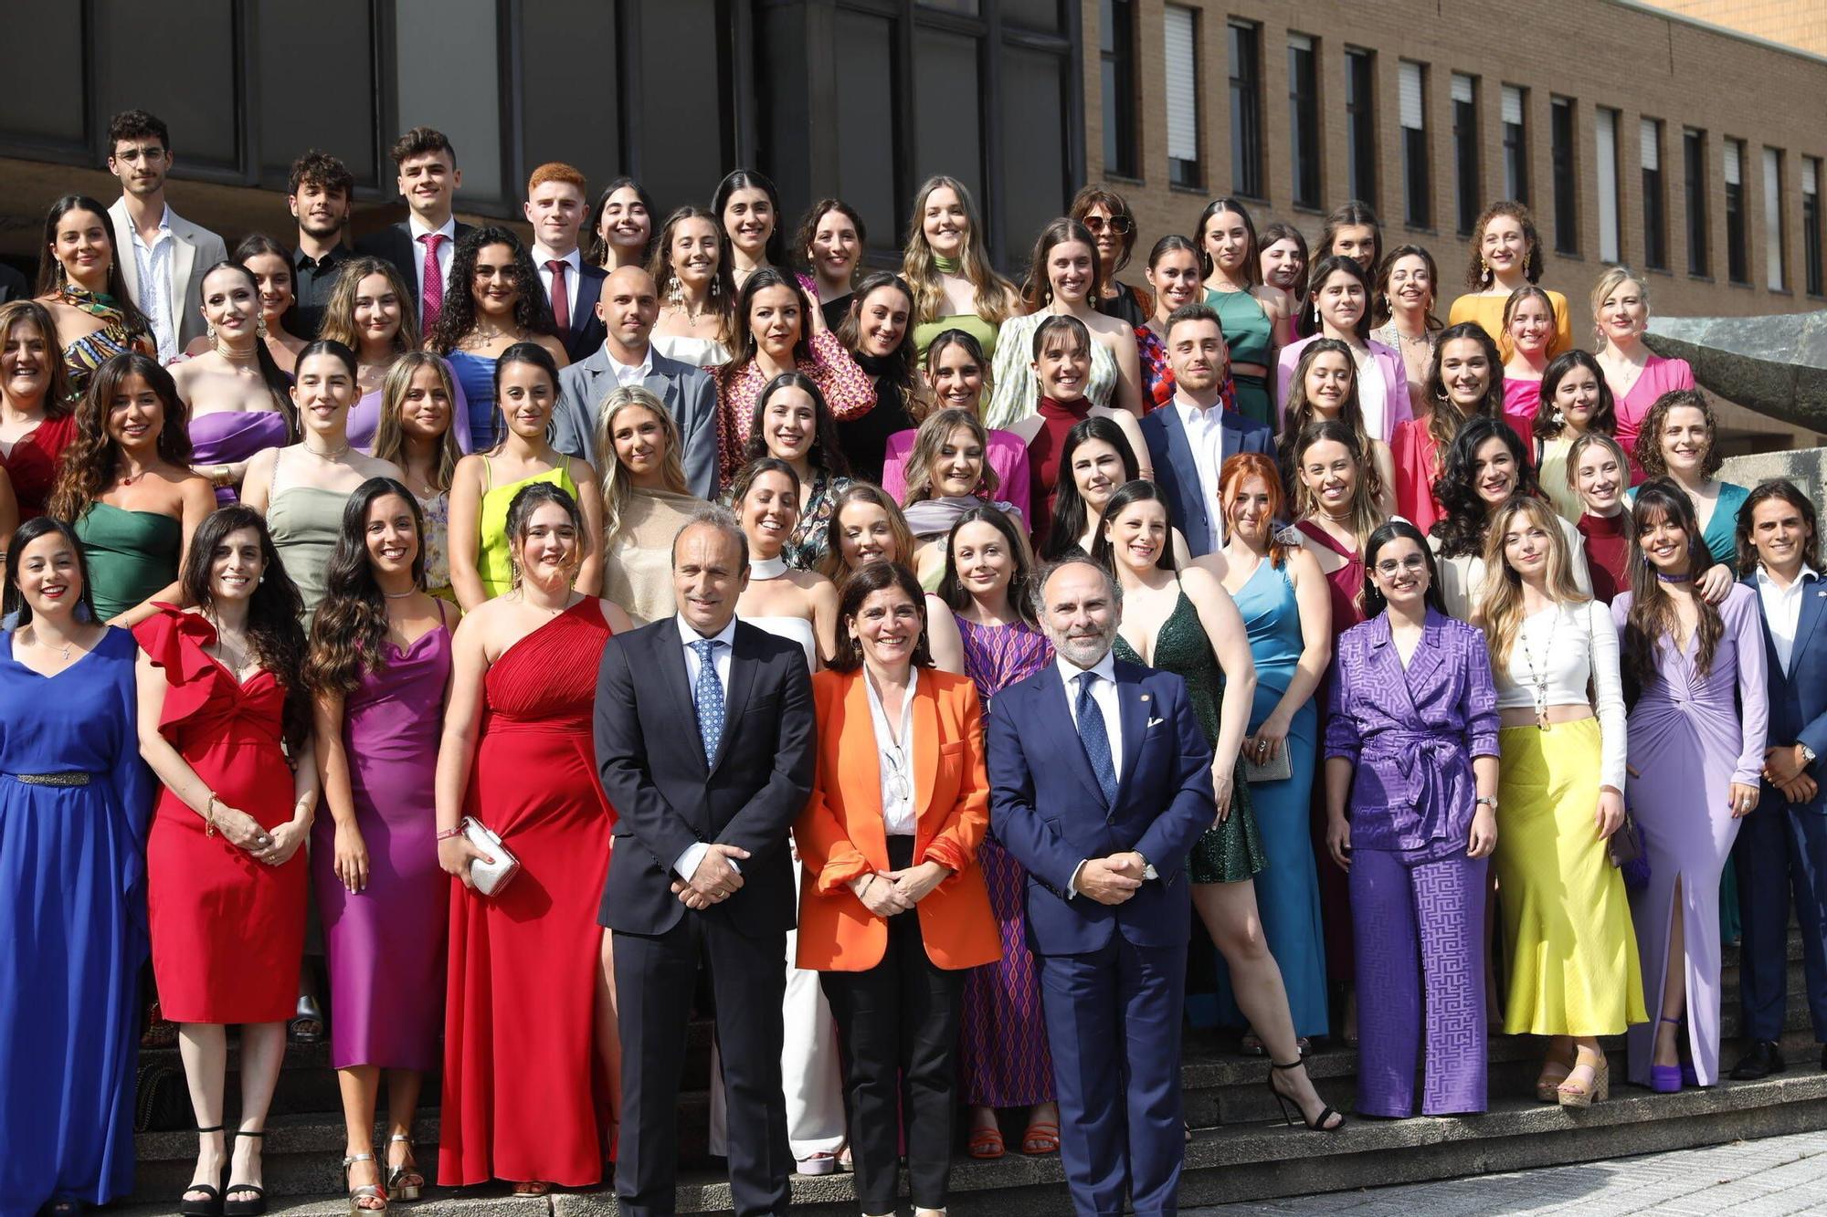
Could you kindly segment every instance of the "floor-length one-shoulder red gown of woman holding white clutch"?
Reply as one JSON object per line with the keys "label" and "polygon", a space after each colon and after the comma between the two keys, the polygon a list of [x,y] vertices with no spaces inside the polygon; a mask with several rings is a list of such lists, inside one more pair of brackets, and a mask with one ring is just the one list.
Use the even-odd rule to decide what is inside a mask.
{"label": "floor-length one-shoulder red gown of woman holding white clutch", "polygon": [[482,680],[464,811],[521,861],[499,895],[451,883],[438,1182],[603,1179],[596,992],[614,811],[590,716],[608,623],[583,599]]}

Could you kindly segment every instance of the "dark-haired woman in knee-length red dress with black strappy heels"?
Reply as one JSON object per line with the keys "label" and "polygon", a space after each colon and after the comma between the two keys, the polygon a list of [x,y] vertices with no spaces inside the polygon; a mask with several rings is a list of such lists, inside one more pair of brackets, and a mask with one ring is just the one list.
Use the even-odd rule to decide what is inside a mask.
{"label": "dark-haired woman in knee-length red dress with black strappy heels", "polygon": [[[197,524],[179,576],[194,608],[137,627],[139,749],[164,784],[146,842],[152,970],[195,1107],[181,1213],[267,1212],[259,1137],[298,1005],[318,767],[300,683],[303,603],[267,524],[234,504]],[[227,1025],[241,1027],[241,1120],[223,1133]]]}

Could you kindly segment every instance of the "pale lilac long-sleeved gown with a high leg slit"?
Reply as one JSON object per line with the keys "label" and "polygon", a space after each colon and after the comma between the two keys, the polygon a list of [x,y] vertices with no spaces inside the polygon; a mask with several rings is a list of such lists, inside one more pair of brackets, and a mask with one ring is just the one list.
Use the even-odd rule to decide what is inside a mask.
{"label": "pale lilac long-sleeved gown with a high leg slit", "polygon": [[[1626,654],[1630,601],[1630,592],[1611,601]],[[1694,640],[1683,651],[1666,638],[1657,641],[1657,676],[1630,709],[1624,791],[1650,861],[1650,884],[1630,903],[1644,1005],[1652,1014],[1663,1007],[1668,926],[1681,879],[1688,1051],[1701,1085],[1719,1078],[1719,875],[1739,828],[1727,808],[1727,789],[1732,782],[1758,788],[1769,724],[1758,594],[1734,585],[1719,616],[1725,632],[1705,676],[1695,671]],[[1653,1036],[1653,1021],[1630,1029],[1630,1080],[1639,1085],[1650,1084]]]}

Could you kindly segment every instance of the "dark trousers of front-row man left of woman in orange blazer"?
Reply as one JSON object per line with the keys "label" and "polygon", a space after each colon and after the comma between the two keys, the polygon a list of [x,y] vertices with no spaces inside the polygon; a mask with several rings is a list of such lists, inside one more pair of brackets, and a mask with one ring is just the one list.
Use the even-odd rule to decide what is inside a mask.
{"label": "dark trousers of front-row man left of woman in orange blazer", "polygon": [[621,1212],[674,1212],[678,1095],[685,1067],[698,959],[711,967],[716,1038],[729,1104],[729,1191],[736,1213],[784,1213],[793,1149],[780,1087],[780,1001],[786,932],[738,934],[687,912],[660,936],[616,930],[616,1007],[621,1029],[621,1137],[616,1199]]}

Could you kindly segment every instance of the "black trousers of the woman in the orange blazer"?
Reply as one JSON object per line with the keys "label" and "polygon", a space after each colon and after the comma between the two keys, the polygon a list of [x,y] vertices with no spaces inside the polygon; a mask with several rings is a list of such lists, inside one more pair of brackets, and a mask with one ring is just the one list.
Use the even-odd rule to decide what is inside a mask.
{"label": "black trousers of the woman in the orange blazer", "polygon": [[[888,839],[888,864],[914,862],[914,839]],[[837,1020],[850,1153],[864,1213],[895,1212],[901,1111],[915,1208],[945,1208],[957,1111],[957,1023],[965,974],[934,965],[919,914],[888,919],[888,952],[868,972],[822,972]],[[734,1127],[734,1124],[731,1124]]]}

